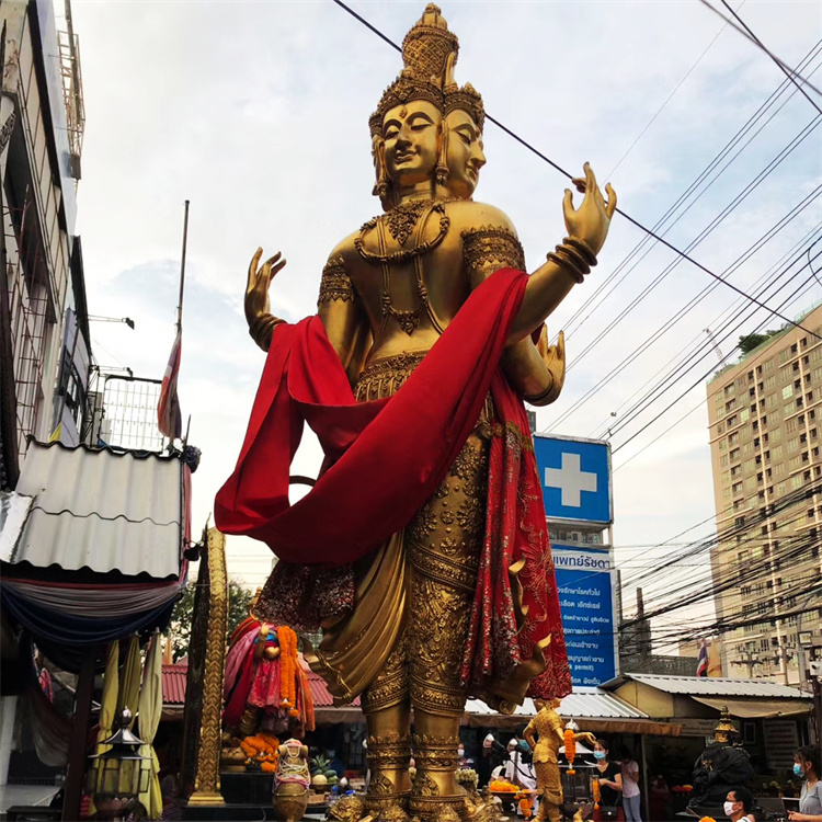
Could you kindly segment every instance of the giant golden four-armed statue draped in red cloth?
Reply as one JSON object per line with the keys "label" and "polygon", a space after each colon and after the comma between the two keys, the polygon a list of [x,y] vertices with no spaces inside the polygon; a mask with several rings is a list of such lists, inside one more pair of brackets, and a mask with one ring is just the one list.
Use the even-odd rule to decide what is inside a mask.
{"label": "giant golden four-armed statue draped in red cloth", "polygon": [[[606,202],[586,163],[584,180],[574,181],[585,192],[582,204],[573,207],[570,191],[563,201],[569,236],[535,272],[522,274],[523,249],[511,220],[498,208],[471,198],[486,162],[484,111],[470,84],[459,88],[454,81],[457,50],[457,38],[439,10],[429,5],[403,41],[402,73],[386,90],[369,122],[374,192],[384,214],[336,246],[322,272],[320,342],[333,347],[336,367],[342,364],[344,368],[341,379],[347,383],[335,390],[340,397],[349,391],[346,402],[373,414],[368,419],[375,422],[366,427],[356,408],[345,404],[345,414],[339,412],[342,433],[332,445],[323,443],[323,475],[308,498],[294,506],[287,499],[276,503],[267,499],[264,489],[272,459],[265,448],[281,448],[287,460],[288,448],[293,452],[298,441],[298,435],[292,436],[290,445],[278,438],[287,436],[285,429],[293,418],[284,418],[285,425],[266,429],[269,408],[277,407],[286,391],[283,386],[296,391],[295,354],[284,354],[282,349],[302,344],[315,326],[287,327],[271,313],[269,285],[285,261],[276,254],[260,265],[259,249],[246,293],[249,331],[260,347],[270,351],[266,369],[287,374],[272,386],[266,383],[267,372],[263,375],[238,467],[215,506],[221,529],[265,539],[288,560],[272,573],[259,613],[275,621],[287,612],[297,628],[297,624],[311,623],[307,615],[311,610],[323,628],[316,655],[307,654],[311,666],[326,678],[338,701],[362,694],[372,773],[367,810],[392,817],[410,812],[424,820],[446,820],[455,813],[465,818],[471,812],[454,775],[459,723],[469,694],[511,712],[526,693],[553,697],[571,689],[522,398],[547,404],[559,396],[564,344],[560,333],[557,345],[548,345],[544,320],[596,263],[616,207],[613,190],[606,186]],[[500,319],[498,327],[493,324],[496,309],[489,317],[488,310],[478,307],[488,295],[502,294],[507,283],[512,294],[517,289],[516,296],[510,301],[499,297],[507,319],[504,327]],[[478,323],[477,328],[467,328],[469,322]],[[480,329],[481,323],[490,330]],[[461,336],[456,336],[456,329]],[[476,340],[472,331],[489,340]],[[444,347],[446,341],[450,349]],[[493,351],[499,353],[489,354],[492,362],[478,362],[476,370],[464,369],[458,377],[464,383],[453,384],[449,363],[461,363],[460,356],[480,344],[486,346],[482,352],[496,345]],[[309,356],[317,351],[311,349]],[[449,353],[443,364],[444,351]],[[299,375],[308,370],[301,361]],[[322,406],[317,397],[321,388],[312,385],[298,402],[294,400],[312,427]],[[454,454],[449,461],[439,466],[437,460],[444,457],[434,453],[436,445],[420,445],[420,449],[431,447],[432,453],[414,454],[413,443],[400,458],[391,453],[391,436],[380,441],[387,443],[381,446],[385,450],[374,446],[368,456],[365,443],[373,442],[369,437],[375,430],[383,431],[379,425],[388,426],[388,419],[408,421],[396,430],[397,436],[408,426],[425,433],[443,396],[453,397],[455,409],[453,426],[449,416],[438,423],[442,452]],[[400,403],[410,397],[415,398],[414,404]],[[513,411],[506,404],[510,397],[515,399]],[[469,411],[464,408],[469,401],[465,398],[473,403]],[[338,406],[332,404],[336,413]],[[404,418],[398,408],[404,409]],[[507,416],[504,408],[509,408]],[[473,415],[465,436],[452,447],[457,436],[452,429],[457,427],[461,413]],[[356,431],[350,433],[345,425]],[[263,435],[265,448],[260,445]],[[376,480],[369,484],[370,475],[351,471],[354,453],[365,459],[358,466],[373,469],[374,476],[384,471],[387,483],[401,486],[402,493],[392,498],[397,505],[369,510],[375,534],[393,522],[393,509],[406,495],[425,493],[404,524],[365,548],[366,538],[354,535],[358,511],[389,491]],[[419,476],[408,465],[412,458],[420,460]],[[336,498],[321,494],[323,486],[333,487],[335,476],[349,478],[347,484],[334,487],[338,495],[347,494],[347,507],[336,514],[340,532],[330,537],[333,546],[328,556],[318,558],[315,551],[309,558],[311,551],[300,553],[294,543],[302,535],[310,540],[310,535],[332,528],[330,507],[318,509],[313,520],[307,514],[305,522],[295,517],[311,511],[310,498],[334,504]],[[276,493],[282,498],[282,488]],[[301,530],[293,527],[295,521]],[[363,530],[369,530],[370,522]],[[288,528],[296,536],[284,537]],[[338,562],[334,550],[355,561],[329,569],[328,564]],[[296,564],[299,561],[315,564]],[[412,743],[413,789],[408,773]]]}

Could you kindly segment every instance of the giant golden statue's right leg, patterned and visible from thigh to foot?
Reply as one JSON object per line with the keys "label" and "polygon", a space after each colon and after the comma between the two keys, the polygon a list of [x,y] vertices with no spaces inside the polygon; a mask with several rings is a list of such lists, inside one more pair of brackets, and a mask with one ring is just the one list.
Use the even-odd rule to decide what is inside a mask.
{"label": "giant golden statue's right leg, patterned and visible from thigh to foot", "polygon": [[477,587],[487,470],[488,442],[472,435],[408,529],[416,763],[411,813],[423,820],[455,819],[455,813],[466,817],[469,812],[454,774],[466,700],[459,669]]}

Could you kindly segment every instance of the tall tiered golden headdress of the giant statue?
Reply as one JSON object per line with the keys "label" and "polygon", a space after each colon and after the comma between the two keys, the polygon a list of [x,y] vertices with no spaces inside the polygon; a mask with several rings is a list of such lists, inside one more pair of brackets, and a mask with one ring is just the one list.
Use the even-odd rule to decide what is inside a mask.
{"label": "tall tiered golden headdress of the giant statue", "polygon": [[[377,110],[368,119],[372,133],[372,147],[377,172],[374,193],[385,201],[388,194],[388,176],[385,167],[383,144],[383,119],[388,111],[412,100],[425,100],[434,105],[443,116],[453,111],[466,111],[480,130],[486,121],[482,98],[470,84],[461,89],[454,80],[454,67],[459,54],[457,35],[448,31],[448,23],[439,8],[429,3],[422,18],[402,41],[402,62],[400,76],[385,90]],[[437,182],[444,183],[447,176],[445,164],[446,139],[441,146],[437,163]]]}

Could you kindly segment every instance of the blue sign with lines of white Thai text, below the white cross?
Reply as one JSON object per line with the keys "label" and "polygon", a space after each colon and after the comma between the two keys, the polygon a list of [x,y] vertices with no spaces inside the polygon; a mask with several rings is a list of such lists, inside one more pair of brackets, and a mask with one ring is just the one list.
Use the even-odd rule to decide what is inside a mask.
{"label": "blue sign with lines of white Thai text, below the white cross", "polygon": [[571,681],[600,685],[617,675],[616,571],[613,549],[553,548]]}

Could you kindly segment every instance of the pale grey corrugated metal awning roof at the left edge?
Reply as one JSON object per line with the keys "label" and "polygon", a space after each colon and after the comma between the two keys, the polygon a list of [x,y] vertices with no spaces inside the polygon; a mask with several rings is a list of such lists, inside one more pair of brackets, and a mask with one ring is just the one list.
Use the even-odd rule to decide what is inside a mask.
{"label": "pale grey corrugated metal awning roof at the left edge", "polygon": [[34,501],[22,529],[3,528],[4,562],[180,574],[183,464],[176,457],[31,442],[15,493]]}

